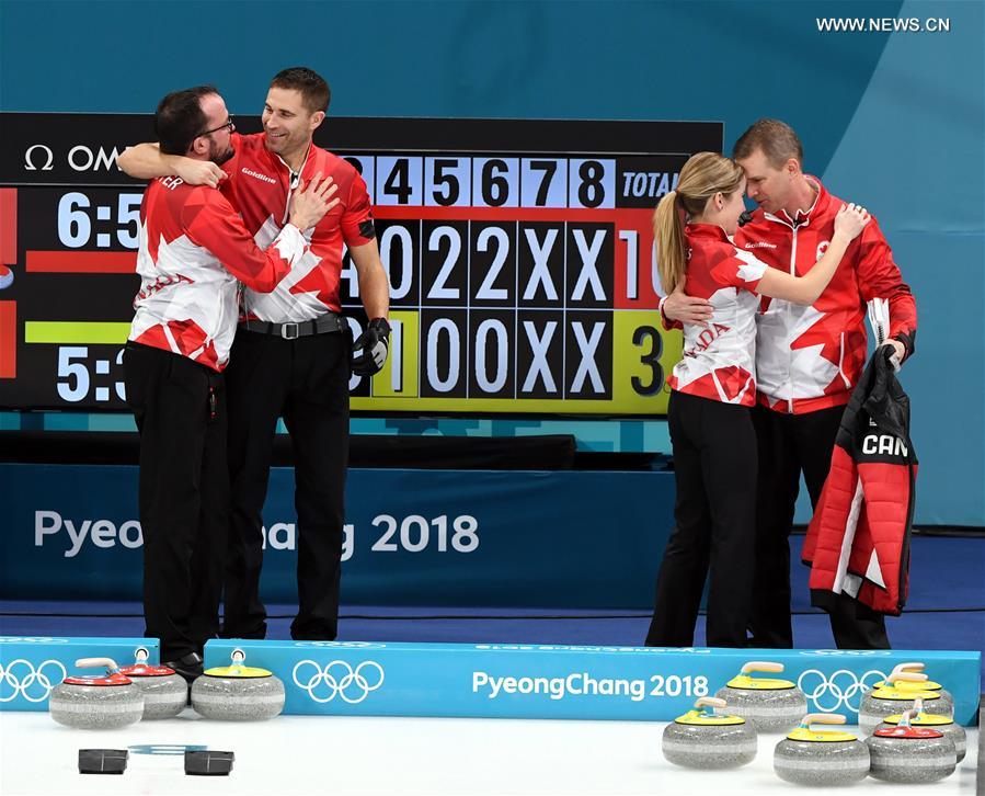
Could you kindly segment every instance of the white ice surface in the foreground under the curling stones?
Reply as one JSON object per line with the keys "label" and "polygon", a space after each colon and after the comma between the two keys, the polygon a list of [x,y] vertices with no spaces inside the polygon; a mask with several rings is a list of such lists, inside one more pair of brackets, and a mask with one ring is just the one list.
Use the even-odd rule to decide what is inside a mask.
{"label": "white ice surface in the foreground under the curling stones", "polygon": [[[0,793],[21,794],[743,794],[810,793],[779,780],[759,737],[749,765],[697,772],[664,761],[663,724],[280,716],[217,723],[191,708],[167,721],[84,731],[46,713],[0,713]],[[974,794],[978,732],[953,775],[934,785],[864,780],[825,794]],[[203,744],[236,752],[232,774],[184,774],[180,755],[130,753],[122,776],[80,775],[80,748]]]}

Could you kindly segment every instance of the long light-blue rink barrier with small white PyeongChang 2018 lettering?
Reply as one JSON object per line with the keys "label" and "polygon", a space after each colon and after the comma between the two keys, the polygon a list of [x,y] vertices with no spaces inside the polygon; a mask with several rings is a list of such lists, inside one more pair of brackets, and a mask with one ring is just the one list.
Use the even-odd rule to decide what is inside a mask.
{"label": "long light-blue rink barrier with small white PyeongChang 2018 lettering", "polygon": [[977,717],[981,652],[654,649],[506,644],[209,641],[206,667],[247,666],[284,681],[285,713],[669,721],[714,695],[743,663],[778,661],[810,713],[857,720],[867,687],[923,661],[954,695],[954,718]]}

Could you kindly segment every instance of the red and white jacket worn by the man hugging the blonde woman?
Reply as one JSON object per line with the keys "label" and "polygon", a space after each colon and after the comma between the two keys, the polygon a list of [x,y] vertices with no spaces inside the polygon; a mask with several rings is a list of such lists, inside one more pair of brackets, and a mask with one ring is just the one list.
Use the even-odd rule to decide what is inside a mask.
{"label": "red and white jacket worn by the man hugging the blonde woman", "polygon": [[[817,198],[806,213],[791,218],[786,212],[775,216],[757,209],[735,234],[740,249],[797,276],[824,254],[843,204],[816,179],[808,179],[817,187]],[[916,303],[874,217],[851,241],[812,306],[763,299],[756,345],[759,402],[794,414],[847,403],[866,362],[866,304],[873,299],[887,300],[887,337],[912,353]]]}

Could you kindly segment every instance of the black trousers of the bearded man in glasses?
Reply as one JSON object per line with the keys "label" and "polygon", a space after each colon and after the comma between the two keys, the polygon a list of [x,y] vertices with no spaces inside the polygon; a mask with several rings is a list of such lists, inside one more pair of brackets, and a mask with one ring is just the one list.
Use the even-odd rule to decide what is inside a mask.
{"label": "black trousers of the bearded man in glasses", "polygon": [[229,469],[220,373],[127,343],[127,403],[140,432],[145,634],[161,660],[202,653],[219,630]]}

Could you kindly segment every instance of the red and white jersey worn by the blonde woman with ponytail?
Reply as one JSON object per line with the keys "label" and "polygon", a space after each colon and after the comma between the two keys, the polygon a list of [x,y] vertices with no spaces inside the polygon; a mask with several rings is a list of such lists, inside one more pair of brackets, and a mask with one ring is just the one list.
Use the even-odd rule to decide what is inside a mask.
{"label": "red and white jersey worn by the blonde woman with ponytail", "polygon": [[671,374],[671,389],[702,398],[756,402],[755,294],[768,268],[736,249],[714,224],[688,224],[687,294],[713,307],[708,327],[685,325],[684,356]]}

